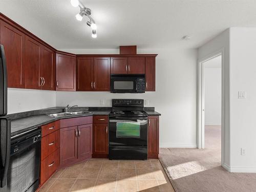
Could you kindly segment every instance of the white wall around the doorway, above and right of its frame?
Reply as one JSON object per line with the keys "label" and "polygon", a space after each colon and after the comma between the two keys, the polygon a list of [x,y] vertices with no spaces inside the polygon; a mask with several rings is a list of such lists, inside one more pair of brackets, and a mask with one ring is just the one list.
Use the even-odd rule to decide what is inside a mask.
{"label": "white wall around the doorway, above and right of its frame", "polygon": [[229,124],[229,29],[225,30],[198,49],[198,60],[222,51],[222,166],[230,170],[230,124]]}

